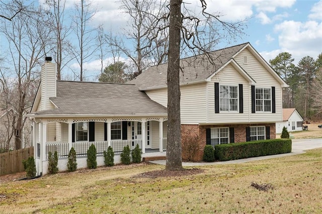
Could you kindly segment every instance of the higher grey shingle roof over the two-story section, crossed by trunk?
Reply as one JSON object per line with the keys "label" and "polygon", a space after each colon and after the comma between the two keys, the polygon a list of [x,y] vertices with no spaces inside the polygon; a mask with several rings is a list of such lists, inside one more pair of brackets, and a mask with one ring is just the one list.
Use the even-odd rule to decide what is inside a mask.
{"label": "higher grey shingle roof over the two-story section, crossed by trunk", "polygon": [[[210,55],[212,56],[213,63],[210,63],[203,54],[181,59],[180,66],[182,70],[180,70],[180,83],[183,84],[208,78],[247,44],[249,43],[211,52]],[[140,90],[166,86],[167,68],[167,63],[152,66],[138,75],[136,79],[129,81],[129,83],[138,85]]]}

